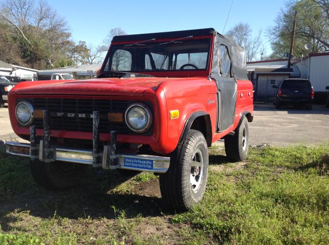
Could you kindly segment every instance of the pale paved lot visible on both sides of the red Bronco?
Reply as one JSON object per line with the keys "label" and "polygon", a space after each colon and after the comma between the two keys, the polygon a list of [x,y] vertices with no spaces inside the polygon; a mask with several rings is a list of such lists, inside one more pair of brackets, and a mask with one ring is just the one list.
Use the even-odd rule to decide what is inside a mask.
{"label": "pale paved lot visible on both sides of the red Bronco", "polygon": [[[329,140],[329,109],[316,105],[312,111],[296,108],[275,109],[255,105],[254,120],[249,124],[250,145],[317,144]],[[15,138],[8,108],[0,109],[0,140]]]}

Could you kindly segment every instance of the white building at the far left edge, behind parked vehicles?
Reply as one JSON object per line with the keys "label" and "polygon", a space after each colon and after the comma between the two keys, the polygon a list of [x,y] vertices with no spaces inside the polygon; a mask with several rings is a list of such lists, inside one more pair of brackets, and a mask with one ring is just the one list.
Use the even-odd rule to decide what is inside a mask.
{"label": "white building at the far left edge, behind parked vehicles", "polygon": [[0,60],[0,75],[15,81],[32,81],[36,78],[38,70],[11,65]]}

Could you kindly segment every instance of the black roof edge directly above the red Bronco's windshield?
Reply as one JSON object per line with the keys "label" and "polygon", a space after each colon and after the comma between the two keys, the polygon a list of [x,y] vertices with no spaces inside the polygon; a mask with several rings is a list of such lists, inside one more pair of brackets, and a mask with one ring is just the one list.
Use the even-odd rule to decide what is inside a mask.
{"label": "black roof edge directly above the red Bronco's windshield", "polygon": [[122,35],[114,36],[112,42],[130,42],[135,40],[149,40],[152,38],[162,39],[162,38],[179,38],[186,36],[207,36],[213,35],[215,33],[213,28],[205,29],[195,29],[186,31],[169,31],[169,32],[156,32],[156,33],[146,33],[146,34],[135,34],[135,35]]}

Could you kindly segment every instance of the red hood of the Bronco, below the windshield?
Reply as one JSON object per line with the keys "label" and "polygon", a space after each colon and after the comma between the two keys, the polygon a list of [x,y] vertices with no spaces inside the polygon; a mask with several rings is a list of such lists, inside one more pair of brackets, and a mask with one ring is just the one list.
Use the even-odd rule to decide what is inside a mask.
{"label": "red hood of the Bronco, below the windshield", "polygon": [[143,96],[145,90],[157,87],[165,80],[156,77],[48,80],[24,82],[15,88],[16,94]]}

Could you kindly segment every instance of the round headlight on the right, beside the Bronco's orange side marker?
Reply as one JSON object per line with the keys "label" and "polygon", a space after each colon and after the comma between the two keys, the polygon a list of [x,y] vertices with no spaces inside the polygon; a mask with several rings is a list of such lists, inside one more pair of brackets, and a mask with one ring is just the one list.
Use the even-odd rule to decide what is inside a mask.
{"label": "round headlight on the right, beside the Bronco's orange side marker", "polygon": [[125,112],[125,123],[136,133],[148,131],[152,124],[152,113],[142,103],[134,103]]}

